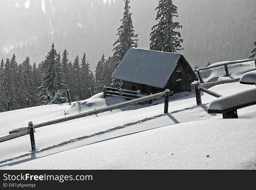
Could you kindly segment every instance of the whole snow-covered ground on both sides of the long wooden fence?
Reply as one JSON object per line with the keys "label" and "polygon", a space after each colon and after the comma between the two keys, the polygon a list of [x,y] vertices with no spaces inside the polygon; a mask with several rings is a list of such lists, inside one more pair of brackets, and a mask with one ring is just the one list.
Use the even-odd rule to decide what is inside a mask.
{"label": "whole snow-covered ground on both sides of the long wooden fence", "polygon": [[[221,95],[255,88],[239,82],[209,88]],[[102,99],[102,93],[72,105],[45,105],[0,113],[0,136],[34,124],[126,101]],[[29,135],[0,143],[0,169],[256,169],[256,106],[238,110],[239,119],[208,114],[216,99],[179,93],[135,105],[35,129],[38,151]],[[153,105],[156,104],[156,105]],[[209,157],[207,157],[209,155]]]}

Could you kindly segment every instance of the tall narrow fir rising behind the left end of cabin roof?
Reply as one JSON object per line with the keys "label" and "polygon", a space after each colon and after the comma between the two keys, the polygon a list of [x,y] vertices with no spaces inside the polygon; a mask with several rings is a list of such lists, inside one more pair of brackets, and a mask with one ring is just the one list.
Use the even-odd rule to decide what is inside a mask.
{"label": "tall narrow fir rising behind the left end of cabin roof", "polygon": [[[122,25],[118,28],[118,39],[113,44],[114,48],[114,59],[117,60],[118,64],[122,61],[123,57],[125,56],[126,52],[129,48],[137,47],[138,46],[138,34],[134,34],[135,30],[132,25],[131,15],[130,13],[130,6],[129,0],[125,1],[125,12],[122,21]],[[117,66],[117,65],[116,65]],[[96,77],[96,75],[95,75]]]}

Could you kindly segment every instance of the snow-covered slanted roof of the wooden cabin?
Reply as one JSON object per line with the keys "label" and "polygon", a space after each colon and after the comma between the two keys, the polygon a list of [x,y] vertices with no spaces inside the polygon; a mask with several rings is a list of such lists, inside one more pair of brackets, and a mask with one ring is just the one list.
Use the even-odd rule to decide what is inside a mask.
{"label": "snow-covered slanted roof of the wooden cabin", "polygon": [[179,53],[130,48],[112,78],[164,88],[180,57]]}

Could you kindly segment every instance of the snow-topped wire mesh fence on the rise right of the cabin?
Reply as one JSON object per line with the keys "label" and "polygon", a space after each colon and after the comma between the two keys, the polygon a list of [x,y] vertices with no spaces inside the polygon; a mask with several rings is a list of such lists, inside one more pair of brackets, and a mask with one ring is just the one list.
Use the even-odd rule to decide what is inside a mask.
{"label": "snow-topped wire mesh fence on the rise right of the cabin", "polygon": [[201,83],[208,82],[214,77],[241,76],[252,70],[256,70],[256,59],[231,61],[194,69]]}

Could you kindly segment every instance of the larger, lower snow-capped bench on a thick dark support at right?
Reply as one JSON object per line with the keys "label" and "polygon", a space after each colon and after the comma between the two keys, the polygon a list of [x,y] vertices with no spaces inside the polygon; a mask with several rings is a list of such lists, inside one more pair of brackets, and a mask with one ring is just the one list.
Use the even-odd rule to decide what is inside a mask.
{"label": "larger, lower snow-capped bench on a thick dark support at right", "polygon": [[256,88],[219,97],[208,107],[208,113],[222,113],[223,119],[237,118],[237,109],[256,104]]}

